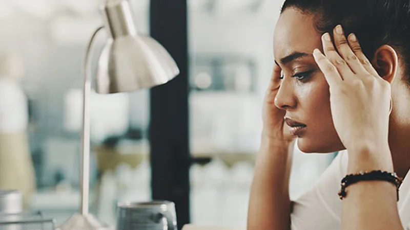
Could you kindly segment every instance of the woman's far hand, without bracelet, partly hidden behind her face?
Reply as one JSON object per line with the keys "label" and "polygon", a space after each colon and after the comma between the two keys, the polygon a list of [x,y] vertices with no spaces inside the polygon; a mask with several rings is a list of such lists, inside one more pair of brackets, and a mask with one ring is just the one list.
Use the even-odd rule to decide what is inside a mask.
{"label": "woman's far hand, without bracelet, partly hidden behind her face", "polygon": [[285,110],[279,109],[275,105],[275,98],[281,82],[281,71],[281,68],[274,63],[272,78],[263,101],[262,137],[289,144],[296,139],[296,136],[291,134],[289,127],[284,123]]}

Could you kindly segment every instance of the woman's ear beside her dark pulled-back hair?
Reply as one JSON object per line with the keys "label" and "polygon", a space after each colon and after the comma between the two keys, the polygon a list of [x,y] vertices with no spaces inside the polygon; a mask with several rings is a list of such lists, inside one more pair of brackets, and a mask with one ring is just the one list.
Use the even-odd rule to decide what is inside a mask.
{"label": "woman's ear beside her dark pulled-back hair", "polygon": [[395,49],[390,45],[382,45],[375,52],[372,64],[380,77],[392,83],[397,74],[398,62],[399,58]]}

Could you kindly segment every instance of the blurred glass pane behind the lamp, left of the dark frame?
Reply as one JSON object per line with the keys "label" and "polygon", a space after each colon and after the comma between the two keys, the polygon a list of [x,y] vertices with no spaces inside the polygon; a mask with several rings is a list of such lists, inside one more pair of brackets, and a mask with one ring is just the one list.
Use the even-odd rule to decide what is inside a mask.
{"label": "blurred glass pane behind the lamp, left of the dark frame", "polygon": [[[149,1],[130,3],[139,30],[148,33]],[[25,208],[54,217],[57,226],[79,208],[81,66],[87,41],[101,25],[100,4],[97,0],[0,4],[4,28],[0,52],[11,50],[22,58],[23,78],[18,84],[28,100],[26,135],[36,189],[26,196],[30,199]],[[93,49],[94,69],[104,36],[98,35]],[[117,202],[151,198],[149,90],[93,94],[91,107],[90,211],[114,224]]]}

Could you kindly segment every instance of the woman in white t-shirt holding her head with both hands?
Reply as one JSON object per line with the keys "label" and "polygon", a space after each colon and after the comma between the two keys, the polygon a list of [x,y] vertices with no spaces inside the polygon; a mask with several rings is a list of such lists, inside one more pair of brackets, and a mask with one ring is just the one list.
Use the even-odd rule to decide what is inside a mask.
{"label": "woman in white t-shirt holding her head with both hands", "polygon": [[[274,56],[248,229],[410,224],[409,1],[286,0]],[[303,152],[346,151],[291,202],[295,140]],[[339,197],[347,174],[359,178],[373,170],[396,172],[404,181],[360,177]]]}

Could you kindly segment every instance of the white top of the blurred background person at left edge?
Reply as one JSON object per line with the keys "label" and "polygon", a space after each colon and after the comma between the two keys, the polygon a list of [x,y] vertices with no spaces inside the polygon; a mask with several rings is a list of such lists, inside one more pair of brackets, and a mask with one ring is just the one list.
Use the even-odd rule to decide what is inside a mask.
{"label": "white top of the blurred background person at left edge", "polygon": [[27,129],[27,97],[12,79],[0,77],[0,133]]}

